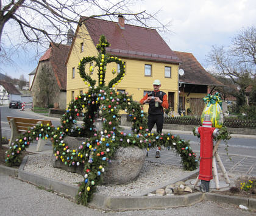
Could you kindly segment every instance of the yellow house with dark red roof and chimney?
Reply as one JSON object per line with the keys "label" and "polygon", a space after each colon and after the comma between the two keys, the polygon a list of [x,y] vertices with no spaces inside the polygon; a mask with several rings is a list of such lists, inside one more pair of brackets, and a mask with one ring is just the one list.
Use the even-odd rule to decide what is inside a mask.
{"label": "yellow house with dark red roof and chimney", "polygon": [[[123,16],[119,16],[118,23],[90,18],[82,26],[77,26],[66,59],[67,105],[71,99],[88,89],[80,78],[77,66],[83,57],[98,55],[96,44],[99,43],[101,35],[105,35],[111,44],[106,49],[107,54],[121,58],[126,65],[126,75],[115,87],[116,91],[129,92],[134,100],[140,101],[146,92],[152,91],[153,81],[159,79],[162,82],[161,91],[168,95],[169,106],[177,111],[179,58],[156,30],[124,24]],[[97,69],[90,72],[90,66],[93,63],[87,64],[85,72],[98,81]],[[116,63],[107,66],[106,85],[116,76],[118,70],[119,65]]]}

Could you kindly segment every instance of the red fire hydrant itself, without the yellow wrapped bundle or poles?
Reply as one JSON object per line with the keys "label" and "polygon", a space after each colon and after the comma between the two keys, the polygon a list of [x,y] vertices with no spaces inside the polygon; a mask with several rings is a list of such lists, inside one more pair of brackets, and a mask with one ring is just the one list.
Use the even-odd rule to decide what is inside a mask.
{"label": "red fire hydrant itself, without the yellow wrapped bundle or poles", "polygon": [[200,169],[199,179],[201,179],[200,190],[209,192],[210,180],[213,179],[213,138],[218,136],[219,129],[212,127],[210,116],[205,115],[202,127],[196,128],[197,135],[200,135]]}

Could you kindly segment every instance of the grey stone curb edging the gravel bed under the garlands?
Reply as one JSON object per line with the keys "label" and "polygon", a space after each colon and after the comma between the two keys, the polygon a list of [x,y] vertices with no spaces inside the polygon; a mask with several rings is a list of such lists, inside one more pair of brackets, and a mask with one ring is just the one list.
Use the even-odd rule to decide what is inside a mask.
{"label": "grey stone curb edging the gravel bed under the garlands", "polygon": [[[24,165],[29,155],[25,156],[19,169],[12,167],[6,167],[0,165],[0,173],[5,175],[10,175],[13,177],[18,177],[23,181],[35,184],[36,186],[43,186],[46,189],[55,190],[56,192],[65,193],[68,196],[75,197],[77,195],[78,186],[72,186],[70,184],[62,183],[53,179],[45,178],[34,173],[29,173],[24,171]],[[181,181],[191,178],[193,175],[196,175],[198,170],[195,170],[190,175],[185,175],[179,179],[173,179],[168,184],[174,183],[174,181]],[[93,200],[89,203],[90,207],[96,207],[98,209],[106,210],[135,210],[135,209],[163,209],[166,207],[180,207],[180,206],[189,206],[194,203],[198,203],[203,200],[214,201],[216,203],[230,203],[239,206],[243,204],[247,206],[250,210],[256,210],[256,199],[253,198],[244,198],[244,197],[235,197],[229,195],[220,195],[217,193],[190,193],[187,195],[173,195],[173,196],[164,196],[164,197],[147,197],[143,196],[148,192],[152,192],[156,189],[165,187],[166,184],[160,185],[159,187],[154,187],[148,191],[141,192],[130,197],[108,197],[100,193],[94,193]]]}

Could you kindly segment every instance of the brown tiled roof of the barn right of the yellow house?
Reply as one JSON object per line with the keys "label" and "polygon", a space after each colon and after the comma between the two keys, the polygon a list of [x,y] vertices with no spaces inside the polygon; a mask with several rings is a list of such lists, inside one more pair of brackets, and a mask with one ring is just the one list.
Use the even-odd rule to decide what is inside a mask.
{"label": "brown tiled roof of the barn right of the yellow house", "polygon": [[221,82],[205,71],[193,54],[188,52],[174,52],[181,61],[179,68],[182,68],[185,72],[184,75],[179,75],[179,82],[196,85],[223,86]]}

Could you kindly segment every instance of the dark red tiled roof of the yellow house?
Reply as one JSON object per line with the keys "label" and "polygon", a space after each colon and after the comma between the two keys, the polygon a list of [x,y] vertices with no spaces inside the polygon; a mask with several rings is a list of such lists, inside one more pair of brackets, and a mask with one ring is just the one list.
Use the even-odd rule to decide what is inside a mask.
{"label": "dark red tiled roof of the yellow house", "polygon": [[105,35],[108,43],[111,44],[106,49],[110,55],[179,63],[176,54],[155,29],[129,24],[125,24],[124,29],[120,29],[118,23],[95,18],[87,19],[85,26],[95,46],[99,43],[99,37]]}

